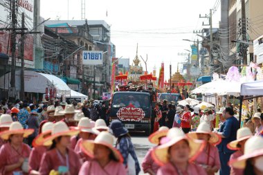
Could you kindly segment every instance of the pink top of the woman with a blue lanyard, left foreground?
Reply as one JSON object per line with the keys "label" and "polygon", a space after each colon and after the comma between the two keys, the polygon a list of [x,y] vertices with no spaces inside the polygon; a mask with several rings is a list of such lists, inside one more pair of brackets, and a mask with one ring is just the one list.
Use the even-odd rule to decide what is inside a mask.
{"label": "pink top of the woman with a blue lanyard, left foreground", "polygon": [[68,154],[62,156],[57,149],[46,151],[42,156],[39,172],[42,175],[48,175],[51,170],[58,171],[60,166],[67,167],[71,175],[77,175],[80,171],[81,160],[73,150],[68,149]]}

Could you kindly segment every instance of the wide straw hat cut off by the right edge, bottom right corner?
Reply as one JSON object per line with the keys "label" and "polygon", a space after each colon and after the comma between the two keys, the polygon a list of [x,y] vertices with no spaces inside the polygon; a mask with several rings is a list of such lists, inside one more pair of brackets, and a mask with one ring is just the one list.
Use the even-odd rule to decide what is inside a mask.
{"label": "wide straw hat cut off by the right edge, bottom right corner", "polygon": [[263,138],[262,136],[252,136],[248,138],[245,143],[244,155],[230,161],[228,164],[238,168],[244,169],[246,167],[246,160],[263,155]]}

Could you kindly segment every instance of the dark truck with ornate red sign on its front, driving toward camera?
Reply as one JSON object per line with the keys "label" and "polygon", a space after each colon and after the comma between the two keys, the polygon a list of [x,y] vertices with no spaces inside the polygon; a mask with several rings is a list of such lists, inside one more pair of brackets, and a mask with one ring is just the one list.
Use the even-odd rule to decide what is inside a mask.
{"label": "dark truck with ornate red sign on its front, driving toward camera", "polygon": [[155,106],[150,93],[117,91],[111,99],[109,121],[120,120],[129,131],[145,131],[149,135],[154,129]]}

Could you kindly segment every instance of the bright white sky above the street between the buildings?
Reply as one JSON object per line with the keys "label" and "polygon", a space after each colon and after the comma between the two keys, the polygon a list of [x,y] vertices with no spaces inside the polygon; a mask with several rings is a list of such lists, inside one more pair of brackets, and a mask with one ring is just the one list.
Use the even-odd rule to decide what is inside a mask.
{"label": "bright white sky above the street between the buildings", "polygon": [[[81,3],[83,0],[41,0],[40,15],[44,19],[81,19]],[[116,57],[129,58],[130,64],[136,56],[147,59],[147,71],[152,72],[154,66],[158,73],[161,62],[165,63],[165,79],[177,70],[177,63],[186,62],[192,42],[183,39],[197,40],[193,30],[201,30],[209,26],[208,19],[199,18],[212,15],[212,27],[219,26],[219,0],[86,0],[86,19],[105,20],[111,26],[111,42],[116,46]],[[217,3],[219,6],[216,6]],[[199,38],[201,39],[201,38]],[[185,50],[186,49],[186,50]],[[145,64],[141,60],[145,70]],[[181,68],[182,64],[179,64]],[[158,74],[157,74],[158,75]]]}

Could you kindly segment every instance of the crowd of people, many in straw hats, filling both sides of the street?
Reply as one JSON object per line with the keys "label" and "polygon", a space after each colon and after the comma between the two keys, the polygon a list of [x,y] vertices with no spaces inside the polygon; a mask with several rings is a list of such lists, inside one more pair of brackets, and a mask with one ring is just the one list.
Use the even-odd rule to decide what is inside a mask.
{"label": "crowd of people, many in straw hats, filling both sides of the street", "polygon": [[158,130],[148,138],[156,146],[140,165],[128,129],[120,120],[109,125],[104,105],[2,103],[0,174],[263,174],[260,111],[239,129],[230,105],[158,102]]}

